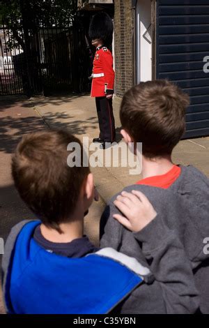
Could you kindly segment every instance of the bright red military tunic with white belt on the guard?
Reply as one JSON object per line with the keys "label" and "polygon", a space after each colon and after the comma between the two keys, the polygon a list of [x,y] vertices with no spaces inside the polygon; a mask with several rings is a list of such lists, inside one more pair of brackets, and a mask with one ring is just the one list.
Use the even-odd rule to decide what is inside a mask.
{"label": "bright red military tunic with white belt on the guard", "polygon": [[107,47],[98,47],[93,59],[91,97],[104,97],[114,93],[113,57]]}

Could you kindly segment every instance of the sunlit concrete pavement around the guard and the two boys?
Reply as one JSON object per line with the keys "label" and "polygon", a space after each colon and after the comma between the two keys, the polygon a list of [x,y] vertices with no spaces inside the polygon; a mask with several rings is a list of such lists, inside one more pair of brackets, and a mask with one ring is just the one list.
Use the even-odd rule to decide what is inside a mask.
{"label": "sunlit concrete pavement around the guard and the two boys", "polygon": [[[116,138],[121,142],[119,121],[120,99],[114,98]],[[31,211],[20,200],[13,186],[10,161],[17,142],[26,133],[49,128],[67,129],[82,137],[98,137],[98,118],[95,101],[88,95],[38,97],[27,100],[24,97],[0,98],[0,237],[6,239],[10,228],[26,218],[34,218]],[[102,151],[106,153],[107,150]],[[192,164],[209,177],[209,137],[181,141],[173,151],[175,163]],[[134,184],[139,176],[130,175],[129,167],[93,167],[95,186],[100,201],[94,202],[85,218],[85,231],[98,244],[99,219],[107,200],[121,191],[124,186]],[[0,313],[3,312],[0,290]]]}

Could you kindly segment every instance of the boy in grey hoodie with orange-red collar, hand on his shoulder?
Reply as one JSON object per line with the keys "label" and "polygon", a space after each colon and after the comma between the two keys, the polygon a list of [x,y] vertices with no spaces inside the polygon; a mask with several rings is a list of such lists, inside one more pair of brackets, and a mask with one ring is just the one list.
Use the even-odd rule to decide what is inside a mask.
{"label": "boy in grey hoodie with orange-red collar, hand on his shoulder", "polygon": [[[162,254],[174,232],[191,264],[200,311],[209,313],[209,255],[204,252],[209,237],[209,180],[196,168],[174,165],[171,160],[173,148],[185,132],[187,105],[189,97],[167,80],[140,83],[123,96],[121,134],[127,144],[134,142],[135,152],[137,142],[142,142],[142,179],[107,204],[100,223],[101,246],[134,256],[148,264],[155,276],[149,288],[136,290],[123,304],[123,313],[130,313],[133,306],[136,313],[169,312],[161,282],[166,278],[178,281],[178,276],[168,270],[169,261],[163,262]],[[131,232],[130,221],[140,222],[136,191],[148,197],[158,216],[140,231]],[[181,269],[183,272],[184,267]]]}

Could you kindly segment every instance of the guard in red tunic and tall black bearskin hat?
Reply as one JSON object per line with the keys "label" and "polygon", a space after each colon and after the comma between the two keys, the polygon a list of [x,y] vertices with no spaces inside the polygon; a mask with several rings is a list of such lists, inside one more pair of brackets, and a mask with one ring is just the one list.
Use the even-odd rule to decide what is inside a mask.
{"label": "guard in red tunic and tall black bearskin hat", "polygon": [[108,47],[112,42],[113,24],[107,13],[93,16],[89,26],[89,37],[96,47],[93,59],[93,73],[91,96],[95,97],[100,126],[100,136],[93,142],[100,142],[100,148],[109,147],[107,142],[114,142],[116,138],[115,121],[112,108],[114,94],[113,57]]}

